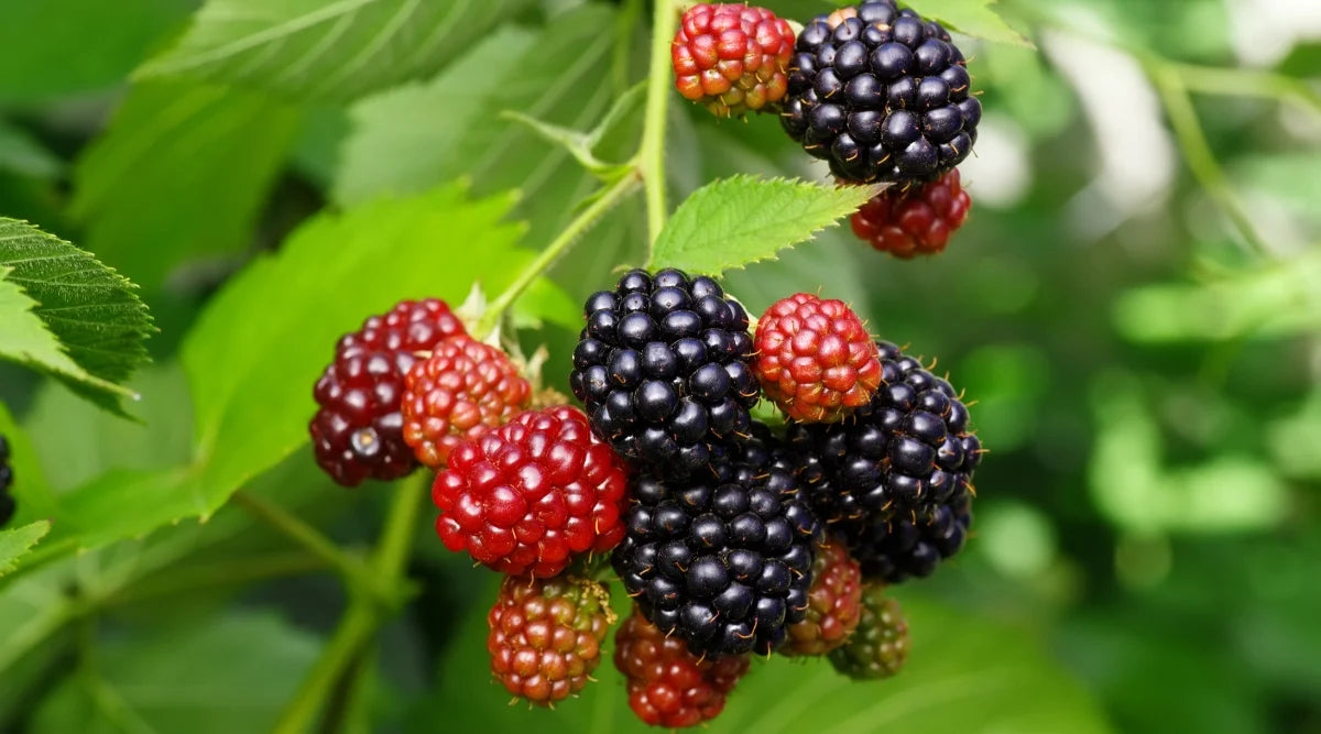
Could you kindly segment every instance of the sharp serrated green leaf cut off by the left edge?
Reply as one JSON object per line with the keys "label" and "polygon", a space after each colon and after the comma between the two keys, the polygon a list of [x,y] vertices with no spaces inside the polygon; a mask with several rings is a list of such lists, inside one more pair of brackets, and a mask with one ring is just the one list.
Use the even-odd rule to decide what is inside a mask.
{"label": "sharp serrated green leaf cut off by the left edge", "polygon": [[152,331],[133,284],[90,253],[0,218],[0,354],[49,370],[108,409],[132,395],[115,383],[147,358]]}

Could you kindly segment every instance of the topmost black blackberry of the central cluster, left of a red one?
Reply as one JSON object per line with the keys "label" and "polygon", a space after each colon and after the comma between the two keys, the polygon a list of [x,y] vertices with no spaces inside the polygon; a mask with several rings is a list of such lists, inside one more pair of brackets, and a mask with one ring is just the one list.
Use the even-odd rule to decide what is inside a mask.
{"label": "topmost black blackberry of the central cluster, left of a red one", "polygon": [[684,478],[746,434],[757,401],[748,314],[715,280],[633,271],[584,308],[569,387],[625,458]]}

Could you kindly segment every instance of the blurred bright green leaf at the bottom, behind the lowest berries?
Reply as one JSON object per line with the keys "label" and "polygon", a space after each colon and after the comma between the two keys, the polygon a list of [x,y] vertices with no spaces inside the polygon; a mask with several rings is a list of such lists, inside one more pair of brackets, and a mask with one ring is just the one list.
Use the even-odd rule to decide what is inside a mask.
{"label": "blurred bright green leaf at the bottom, behind the lowest berries", "polygon": [[[618,585],[612,591],[616,610],[626,614],[631,602]],[[494,595],[494,589],[487,593]],[[1032,635],[909,594],[900,598],[913,646],[898,676],[853,683],[822,659],[753,660],[724,713],[704,729],[711,734],[1108,731],[1087,692]],[[609,660],[593,673],[598,680],[553,712],[510,706],[498,683],[464,673],[485,669],[487,661],[486,605],[474,603],[437,667],[439,693],[411,712],[408,731],[429,731],[440,716],[457,731],[653,731],[629,710],[624,681]]]}

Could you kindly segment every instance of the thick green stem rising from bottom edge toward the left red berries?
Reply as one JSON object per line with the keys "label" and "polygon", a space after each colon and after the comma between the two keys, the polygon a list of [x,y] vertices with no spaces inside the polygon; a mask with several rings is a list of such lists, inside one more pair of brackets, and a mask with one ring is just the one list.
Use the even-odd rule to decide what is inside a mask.
{"label": "thick green stem rising from bottom edge toward the left red berries", "polygon": [[[412,531],[421,512],[421,498],[428,487],[428,474],[419,471],[395,487],[395,496],[386,519],[384,535],[371,557],[370,573],[380,587],[387,589],[395,599],[402,597],[404,561],[412,543]],[[357,593],[354,593],[357,591]],[[343,680],[343,673],[363,648],[375,636],[387,615],[396,610],[396,603],[383,603],[380,598],[363,594],[350,587],[349,611],[339,620],[330,642],[316,665],[303,680],[297,694],[280,714],[275,726],[276,734],[303,734],[316,721],[325,705],[326,697],[336,684]],[[351,683],[351,681],[349,681]]]}

